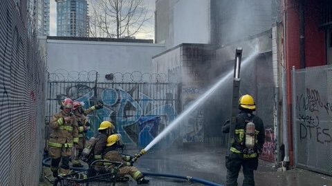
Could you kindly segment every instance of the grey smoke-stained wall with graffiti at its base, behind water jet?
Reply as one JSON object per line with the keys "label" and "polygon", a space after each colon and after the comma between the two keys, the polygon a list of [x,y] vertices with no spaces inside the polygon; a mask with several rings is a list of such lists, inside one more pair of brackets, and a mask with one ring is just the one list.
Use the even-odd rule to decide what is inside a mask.
{"label": "grey smoke-stained wall with graffiti at its base, behind water jet", "polygon": [[[181,88],[177,112],[186,110],[206,91],[208,69],[214,58],[210,45],[183,43],[172,50],[154,56],[154,70],[167,73],[171,81]],[[183,143],[203,142],[205,138],[205,118],[203,107],[188,114],[179,127]]]}

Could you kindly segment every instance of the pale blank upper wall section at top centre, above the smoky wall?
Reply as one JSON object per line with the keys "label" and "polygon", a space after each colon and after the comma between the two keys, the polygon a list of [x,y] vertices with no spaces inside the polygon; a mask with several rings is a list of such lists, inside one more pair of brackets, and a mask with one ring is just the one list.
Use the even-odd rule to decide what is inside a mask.
{"label": "pale blank upper wall section at top centre, above the smoky wall", "polygon": [[[176,19],[175,19],[176,18]],[[210,0],[156,1],[156,43],[210,43]]]}

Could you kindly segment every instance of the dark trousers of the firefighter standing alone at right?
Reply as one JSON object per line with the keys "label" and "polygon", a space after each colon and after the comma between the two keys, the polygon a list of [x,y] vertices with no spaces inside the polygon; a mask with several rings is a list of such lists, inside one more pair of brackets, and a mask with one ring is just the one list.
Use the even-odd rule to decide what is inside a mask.
{"label": "dark trousers of the firefighter standing alone at right", "polygon": [[258,166],[258,158],[232,158],[226,157],[225,165],[227,168],[226,186],[237,186],[239,171],[243,167],[243,186],[255,185],[254,170]]}

